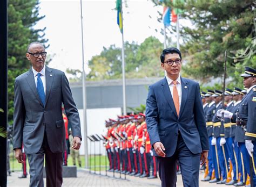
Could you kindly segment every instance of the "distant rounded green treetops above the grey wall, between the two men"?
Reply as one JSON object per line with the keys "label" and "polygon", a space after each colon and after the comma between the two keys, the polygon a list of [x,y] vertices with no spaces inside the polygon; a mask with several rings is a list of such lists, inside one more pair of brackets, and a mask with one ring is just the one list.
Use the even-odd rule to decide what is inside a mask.
{"label": "distant rounded green treetops above the grey wall, between the two men", "polygon": [[[154,37],[149,37],[138,45],[125,42],[125,73],[126,78],[143,78],[164,76],[160,67],[159,56],[163,44]],[[89,61],[90,73],[87,80],[104,80],[122,78],[121,48],[111,45],[104,47],[100,55],[93,56]]]}

